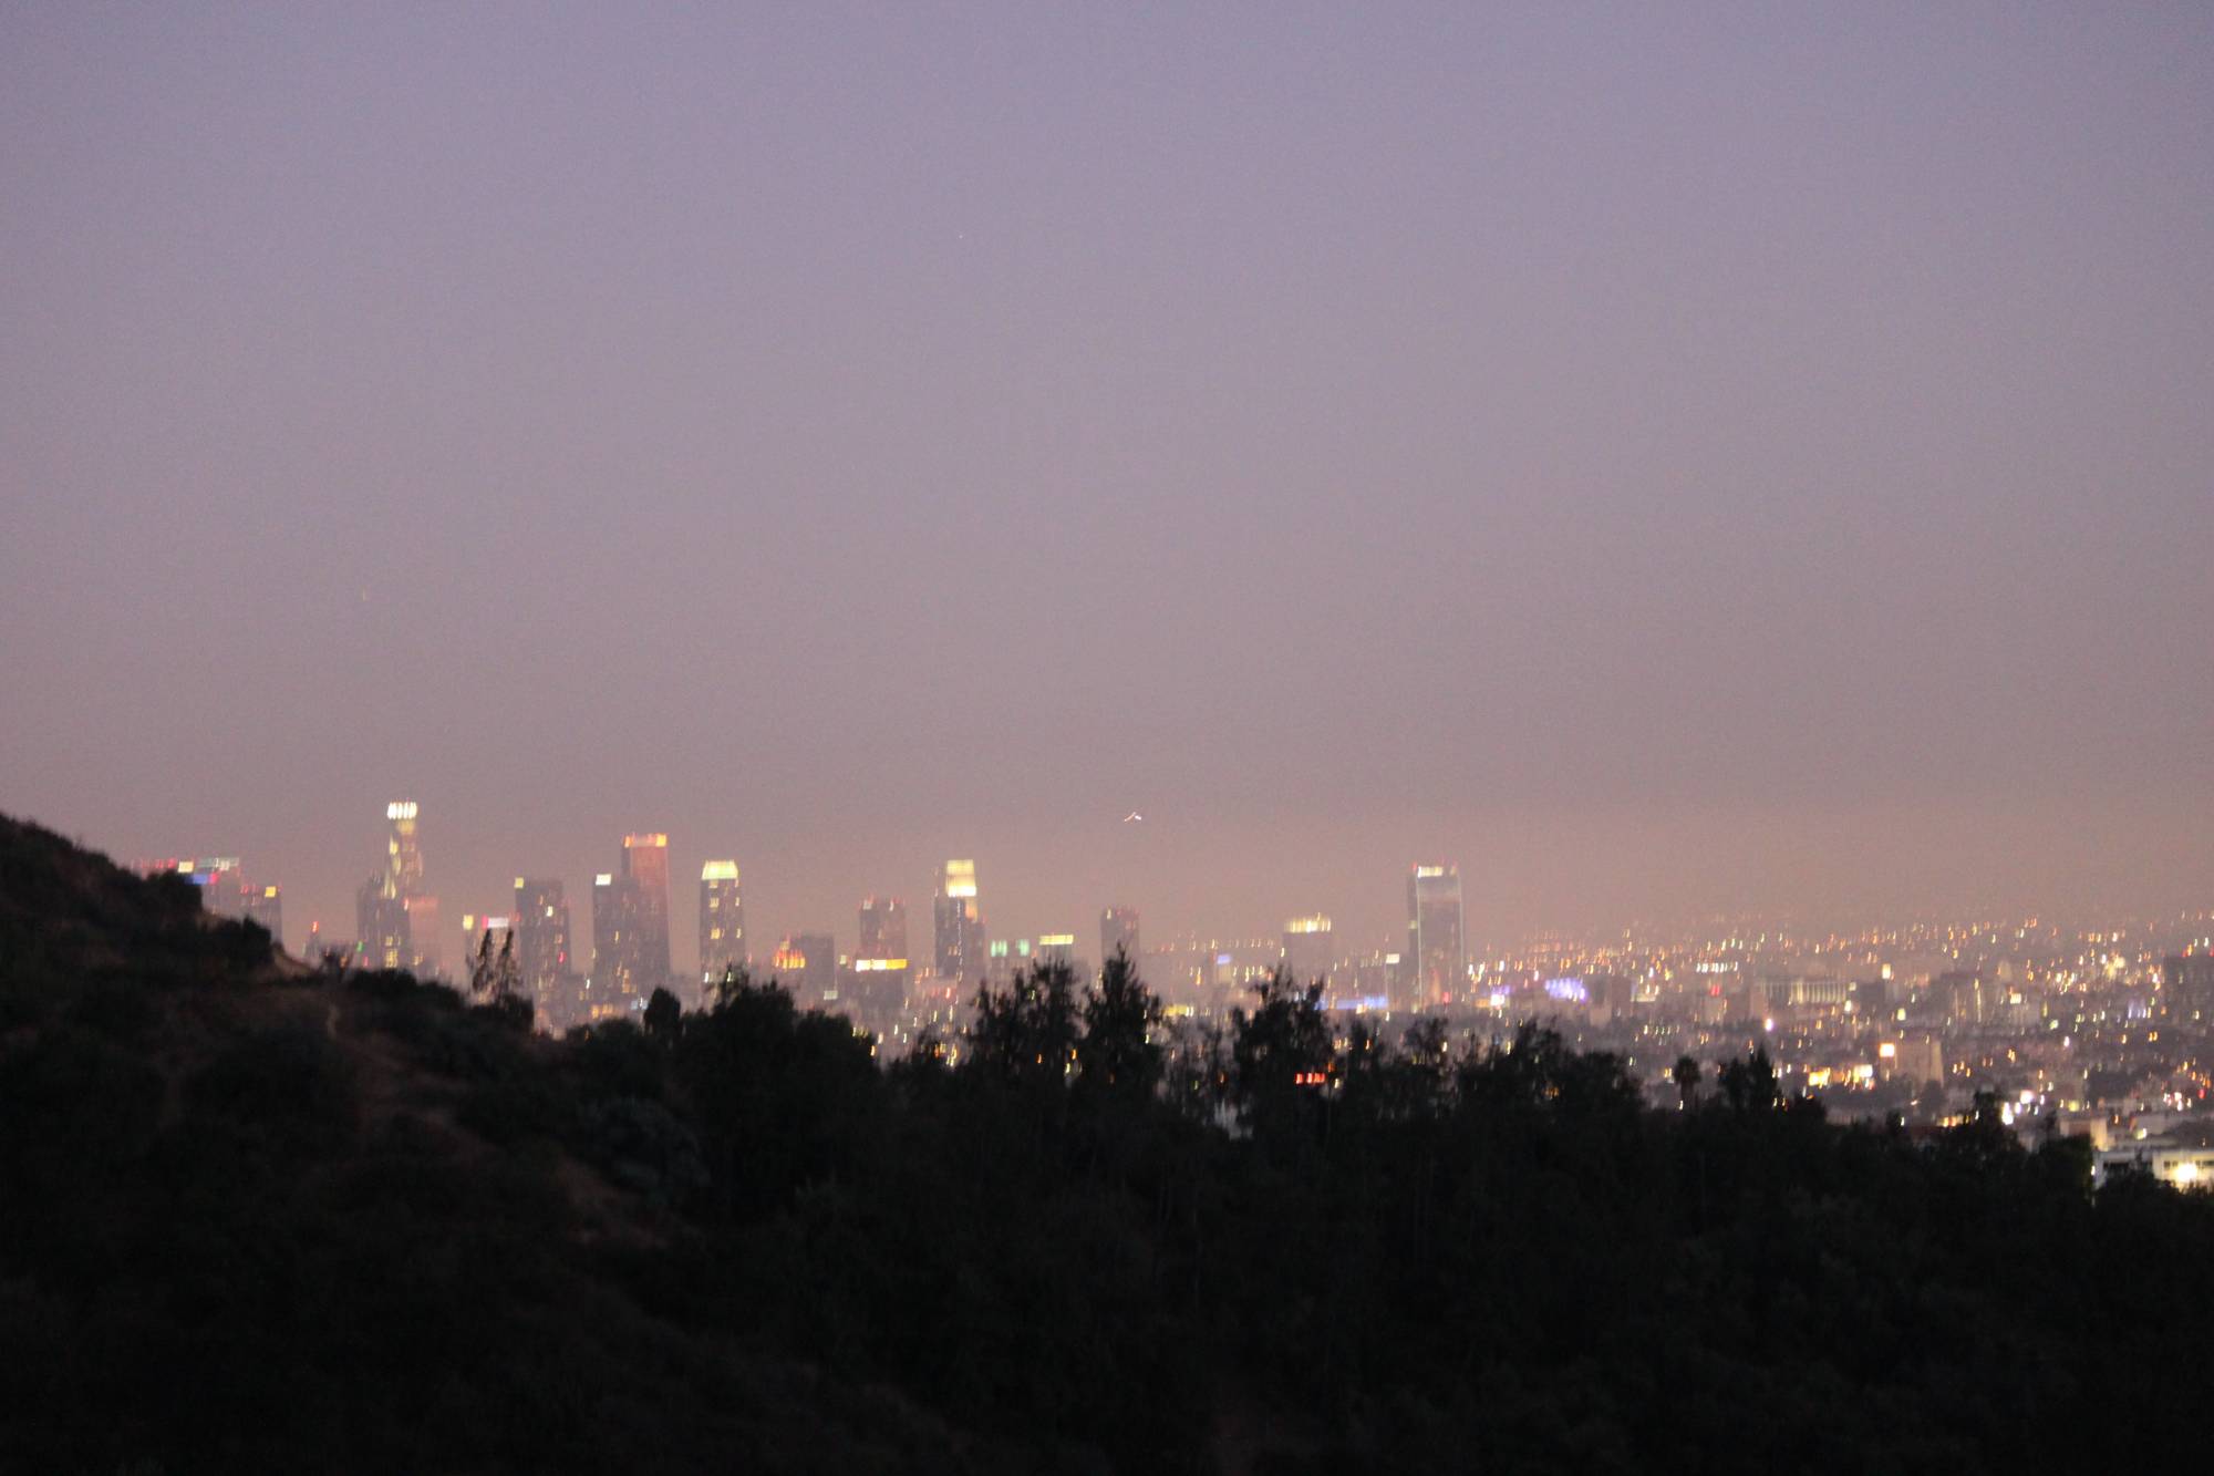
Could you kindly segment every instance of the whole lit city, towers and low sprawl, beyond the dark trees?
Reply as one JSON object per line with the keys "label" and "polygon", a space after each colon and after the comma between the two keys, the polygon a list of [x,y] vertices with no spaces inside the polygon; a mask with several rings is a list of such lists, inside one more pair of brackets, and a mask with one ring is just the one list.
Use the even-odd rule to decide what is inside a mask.
{"label": "whole lit city, towers and low sprawl, beyond the dark trees", "polygon": [[1364,1022],[1397,1035],[1435,1017],[1455,1035],[1497,1042],[1545,1022],[1579,1048],[1621,1055],[1658,1106],[1683,1090],[1678,1062],[1760,1048],[1784,1090],[1833,1117],[1942,1124],[1988,1093],[2026,1137],[2090,1137],[2101,1170],[2128,1161],[2176,1183],[2214,1183],[2214,913],[2101,929],[2039,918],[1822,935],[1627,929],[1479,951],[1459,869],[1424,860],[1404,873],[1397,949],[1346,949],[1324,913],[1286,918],[1273,937],[1149,944],[1138,909],[1116,902],[1100,906],[1096,931],[994,935],[985,873],[974,858],[948,858],[925,940],[910,942],[903,898],[866,895],[848,951],[815,931],[755,940],[739,862],[722,858],[700,869],[700,968],[680,977],[666,833],[622,838],[615,867],[591,878],[582,935],[562,878],[518,875],[505,911],[447,918],[425,886],[418,820],[414,800],[385,807],[383,860],[356,891],[354,937],[319,924],[290,937],[283,889],[248,878],[239,858],[139,869],[190,878],[210,913],[248,918],[317,964],[452,982],[487,937],[511,942],[536,1024],[556,1035],[633,1019],[658,988],[706,1006],[726,975],[746,971],[777,980],[801,1008],[844,1015],[890,1057],[925,1033],[959,1039],[983,986],[1005,988],[1036,964],[1089,980],[1120,951],[1182,1031],[1224,1022],[1282,971],[1320,991],[1342,1031]]}

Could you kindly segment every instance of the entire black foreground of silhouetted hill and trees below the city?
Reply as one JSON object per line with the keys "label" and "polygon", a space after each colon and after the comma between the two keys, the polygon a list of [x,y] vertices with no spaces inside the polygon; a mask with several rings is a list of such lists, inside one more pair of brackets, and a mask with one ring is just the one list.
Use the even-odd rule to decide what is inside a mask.
{"label": "entire black foreground of silhouetted hill and trees below the city", "polygon": [[2187,1452],[2214,1206],[1765,1062],[1169,1050],[1125,964],[879,1066],[733,977],[562,1042],[29,827],[0,1469],[2006,1472]]}

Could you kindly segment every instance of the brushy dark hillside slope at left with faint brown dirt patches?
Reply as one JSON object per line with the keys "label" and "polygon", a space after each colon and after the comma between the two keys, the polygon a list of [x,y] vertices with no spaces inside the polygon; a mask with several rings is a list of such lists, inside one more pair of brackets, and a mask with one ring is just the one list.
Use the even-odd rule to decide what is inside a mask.
{"label": "brushy dark hillside slope at left with faint brown dirt patches", "polygon": [[0,1469],[1014,1469],[644,1312],[604,1259],[689,1234],[651,1150],[500,1117],[589,1097],[562,1046],[292,973],[0,818]]}

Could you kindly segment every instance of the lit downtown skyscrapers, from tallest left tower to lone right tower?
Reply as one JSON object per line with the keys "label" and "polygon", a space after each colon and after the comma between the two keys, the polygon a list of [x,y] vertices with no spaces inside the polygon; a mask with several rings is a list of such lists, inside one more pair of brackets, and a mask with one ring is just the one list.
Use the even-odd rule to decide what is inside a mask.
{"label": "lit downtown skyscrapers, from tallest left tower to lone right tower", "polygon": [[[356,966],[430,975],[443,968],[438,900],[423,886],[416,822],[414,800],[385,807],[385,864],[356,893],[359,942],[348,951]],[[1331,922],[1320,915],[1291,920],[1275,960],[1255,960],[1251,951],[1242,957],[1215,955],[1211,944],[1142,960],[1138,911],[1131,906],[1100,913],[1100,960],[1122,951],[1145,966],[1156,988],[1171,995],[1189,986],[1204,997],[1211,986],[1249,982],[1273,962],[1302,982],[1328,977],[1342,984],[1337,993],[1348,1002],[1359,997],[1395,1011],[1452,1006],[1468,991],[1459,871],[1417,864],[1406,886],[1406,946],[1377,953],[1359,968],[1335,955]],[[952,1024],[976,986],[1003,982],[1032,962],[1083,968],[1074,933],[992,940],[974,860],[948,860],[939,875],[928,968],[919,968],[908,953],[906,902],[875,895],[861,900],[852,955],[839,955],[828,933],[795,933],[755,955],[737,862],[711,860],[700,869],[697,986],[686,988],[671,962],[669,911],[669,836],[635,833],[622,842],[620,869],[593,878],[589,955],[571,942],[569,902],[558,878],[518,875],[514,911],[505,918],[463,918],[463,933],[472,942],[485,933],[514,937],[523,988],[536,1004],[540,1026],[551,1031],[627,1017],[642,1011],[655,988],[700,1002],[731,968],[766,964],[801,1006],[837,1011],[879,1037],[897,1037],[908,1024]],[[1153,977],[1160,973],[1171,977]]]}

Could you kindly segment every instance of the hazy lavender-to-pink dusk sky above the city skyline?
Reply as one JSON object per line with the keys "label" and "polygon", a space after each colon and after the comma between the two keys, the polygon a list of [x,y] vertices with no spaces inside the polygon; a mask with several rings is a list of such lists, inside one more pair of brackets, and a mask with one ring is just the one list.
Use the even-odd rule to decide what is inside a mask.
{"label": "hazy lavender-to-pink dusk sky above the city skyline", "polygon": [[2205,4],[0,4],[0,809],[292,933],[2210,906],[2210,523]]}

